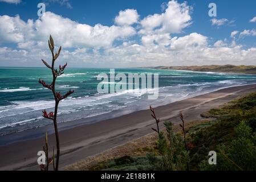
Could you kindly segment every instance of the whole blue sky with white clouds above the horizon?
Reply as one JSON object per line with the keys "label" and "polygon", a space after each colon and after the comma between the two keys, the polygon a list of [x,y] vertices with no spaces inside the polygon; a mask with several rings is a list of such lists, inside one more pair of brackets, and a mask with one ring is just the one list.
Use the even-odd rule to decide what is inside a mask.
{"label": "whole blue sky with white clouds above the horizon", "polygon": [[0,0],[0,67],[43,67],[50,35],[55,51],[62,46],[56,64],[74,68],[256,65],[255,7],[254,0]]}

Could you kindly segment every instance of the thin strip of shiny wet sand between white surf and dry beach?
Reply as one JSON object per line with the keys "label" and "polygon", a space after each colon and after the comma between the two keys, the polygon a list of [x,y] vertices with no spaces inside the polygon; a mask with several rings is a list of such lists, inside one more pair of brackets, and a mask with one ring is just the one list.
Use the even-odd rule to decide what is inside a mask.
{"label": "thin strip of shiny wet sand between white surf and dry beach", "polygon": [[[186,96],[185,98],[182,98],[181,100],[164,103],[162,105],[157,105],[156,107],[170,105],[175,102],[187,100],[187,99],[193,98],[193,97],[203,96],[205,94],[217,92],[222,89],[228,89],[228,88],[233,88],[233,87],[237,87],[237,86],[249,86],[249,85],[254,85],[254,84],[226,86],[226,87],[218,88],[216,90],[211,90],[210,92],[189,95],[189,96]],[[113,119],[113,118],[121,117],[126,114],[131,114],[131,113],[135,113],[136,111],[143,111],[143,110],[148,110],[148,107],[141,107],[139,110],[132,109],[132,108],[118,109],[118,110],[113,110],[113,111],[110,111],[107,113],[94,115],[92,117],[73,119],[73,120],[66,121],[66,122],[59,122],[58,129],[59,129],[59,132],[64,131],[64,130],[70,130],[75,127],[79,127],[79,126],[83,126],[83,125],[91,125],[96,122],[101,122],[105,119]],[[44,125],[44,126],[40,126],[40,127],[32,127],[30,129],[26,129],[26,130],[14,132],[14,133],[6,134],[6,135],[0,135],[0,147],[9,146],[10,144],[14,144],[14,143],[18,143],[18,142],[25,142],[26,140],[42,138],[42,137],[44,137],[46,132],[48,133],[48,135],[54,134],[54,132],[55,132],[54,126],[52,124],[50,124],[50,125]]]}

